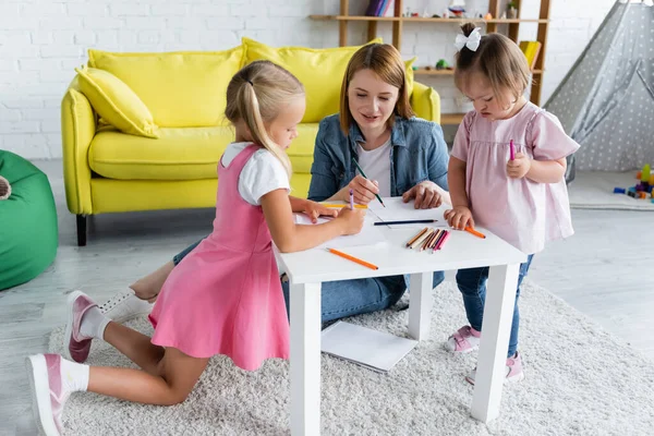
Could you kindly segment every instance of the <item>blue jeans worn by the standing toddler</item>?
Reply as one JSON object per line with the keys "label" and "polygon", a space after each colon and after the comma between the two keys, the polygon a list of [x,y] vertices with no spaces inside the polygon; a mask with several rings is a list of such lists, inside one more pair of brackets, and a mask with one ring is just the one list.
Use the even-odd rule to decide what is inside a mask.
{"label": "blue jeans worn by the standing toddler", "polygon": [[[534,257],[530,254],[524,264],[520,264],[518,275],[518,289],[516,290],[516,303],[513,305],[513,322],[511,323],[511,336],[509,338],[509,351],[507,358],[516,354],[518,349],[518,329],[520,327],[520,311],[518,310],[518,298],[520,296],[520,284],[526,276],[531,261]],[[463,305],[470,326],[477,331],[482,331],[482,320],[484,318],[484,302],[486,301],[486,281],[488,280],[488,267],[459,269],[457,271],[457,284],[463,294]]]}

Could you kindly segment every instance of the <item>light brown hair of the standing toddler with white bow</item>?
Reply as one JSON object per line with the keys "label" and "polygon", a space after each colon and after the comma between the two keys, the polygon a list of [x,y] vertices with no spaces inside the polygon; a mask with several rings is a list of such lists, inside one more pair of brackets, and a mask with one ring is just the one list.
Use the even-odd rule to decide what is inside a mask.
{"label": "light brown hair of the standing toddler with white bow", "polygon": [[[465,23],[461,26],[463,35],[470,36],[475,26]],[[463,47],[456,56],[455,84],[463,90],[470,73],[480,72],[491,83],[495,97],[501,105],[505,89],[510,89],[516,99],[524,93],[530,85],[530,70],[526,58],[511,39],[501,34],[482,36],[480,46],[475,51]]]}

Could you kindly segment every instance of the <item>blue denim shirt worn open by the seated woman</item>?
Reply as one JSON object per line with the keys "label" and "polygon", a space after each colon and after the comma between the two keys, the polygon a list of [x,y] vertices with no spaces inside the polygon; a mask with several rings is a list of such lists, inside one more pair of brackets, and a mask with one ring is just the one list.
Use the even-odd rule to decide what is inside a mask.
{"label": "blue denim shirt worn open by the seated woman", "polygon": [[[352,159],[359,161],[356,143],[365,143],[356,123],[352,123],[350,134],[346,136],[338,113],[320,121],[311,167],[308,199],[323,202],[354,179],[356,167]],[[400,196],[425,180],[448,191],[449,154],[440,125],[415,117],[396,117],[390,144],[391,196]]]}

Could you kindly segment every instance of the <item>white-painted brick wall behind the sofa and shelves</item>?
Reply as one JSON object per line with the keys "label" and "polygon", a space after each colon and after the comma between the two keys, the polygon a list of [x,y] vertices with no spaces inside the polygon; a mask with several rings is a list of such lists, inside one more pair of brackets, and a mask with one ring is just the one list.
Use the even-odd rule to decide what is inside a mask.
{"label": "white-painted brick wall behind the sofa and shelves", "polygon": [[[544,102],[565,76],[614,0],[552,0]],[[449,0],[405,0],[413,11],[440,13]],[[351,0],[362,13],[366,0]],[[537,0],[523,0],[523,16],[537,13]],[[486,12],[487,1],[468,0]],[[338,0],[1,0],[0,148],[27,158],[61,156],[59,105],[73,69],[86,50],[220,50],[247,36],[271,46],[338,45],[338,24],[314,22],[312,13],[338,13]],[[391,40],[390,24],[378,26]],[[417,64],[451,62],[456,25],[405,24],[402,56]],[[534,38],[534,29],[521,35]],[[361,44],[365,25],[351,26],[350,44]],[[458,111],[451,77],[419,81],[434,86],[444,111]]]}

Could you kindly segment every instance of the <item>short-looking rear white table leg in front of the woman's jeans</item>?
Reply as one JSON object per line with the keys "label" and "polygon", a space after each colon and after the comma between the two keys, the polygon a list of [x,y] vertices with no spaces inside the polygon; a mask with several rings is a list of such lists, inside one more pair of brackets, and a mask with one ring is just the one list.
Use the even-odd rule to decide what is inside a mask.
{"label": "short-looking rear white table leg in front of the woman's jeans", "polygon": [[412,274],[409,280],[409,336],[427,339],[432,315],[434,272]]}

